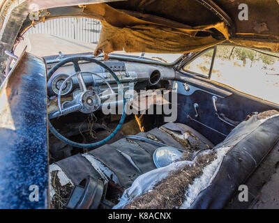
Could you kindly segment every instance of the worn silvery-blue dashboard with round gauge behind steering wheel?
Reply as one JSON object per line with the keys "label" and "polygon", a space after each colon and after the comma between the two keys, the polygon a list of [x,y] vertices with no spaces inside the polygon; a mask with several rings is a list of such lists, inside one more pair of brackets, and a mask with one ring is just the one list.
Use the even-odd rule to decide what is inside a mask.
{"label": "worn silvery-blue dashboard with round gauge behind steering wheel", "polygon": [[[109,61],[104,61],[103,63],[111,68],[119,78],[123,86],[125,97],[128,100],[133,100],[133,94],[135,92],[140,92],[141,90],[171,89],[172,82],[175,78],[174,70],[165,66],[111,59]],[[55,64],[47,65],[48,70],[54,65]],[[117,94],[118,86],[116,80],[112,77],[110,72],[105,70],[105,68],[98,66],[96,63],[85,61],[82,61],[79,65],[83,72],[82,77],[86,88],[95,91],[99,95],[106,95],[107,92],[110,92],[110,87],[107,85],[107,83],[109,83],[114,93]],[[75,69],[73,63],[68,63],[56,70],[48,80],[47,95],[49,97],[49,114],[57,109],[56,99],[61,84],[74,72]],[[86,72],[91,72],[96,75]],[[80,86],[77,76],[74,76],[68,79],[66,84],[63,85],[63,89],[61,89],[61,102],[63,103],[63,106],[66,102],[73,100],[76,91],[80,91]],[[107,98],[105,97],[102,98],[100,103],[103,105],[106,99]],[[110,103],[113,106],[114,104],[118,105],[119,103],[122,103],[122,101],[119,100]]]}

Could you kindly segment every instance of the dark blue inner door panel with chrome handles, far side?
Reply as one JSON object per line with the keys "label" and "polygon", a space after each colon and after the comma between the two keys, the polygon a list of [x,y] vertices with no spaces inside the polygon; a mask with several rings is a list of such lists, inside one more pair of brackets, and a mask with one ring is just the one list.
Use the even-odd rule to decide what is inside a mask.
{"label": "dark blue inner door panel with chrome handles, far side", "polygon": [[[225,118],[228,118],[228,122],[232,120],[240,123],[252,112],[279,110],[279,107],[275,104],[229,91],[209,82],[187,77],[179,72],[176,73],[176,83],[179,111],[177,122],[194,128],[211,140],[213,144],[223,141],[227,134],[234,129],[234,126],[218,118],[213,105],[213,96],[217,99],[218,114],[224,114]],[[186,91],[184,83],[187,83],[188,91]],[[197,113],[195,104],[198,105]]]}

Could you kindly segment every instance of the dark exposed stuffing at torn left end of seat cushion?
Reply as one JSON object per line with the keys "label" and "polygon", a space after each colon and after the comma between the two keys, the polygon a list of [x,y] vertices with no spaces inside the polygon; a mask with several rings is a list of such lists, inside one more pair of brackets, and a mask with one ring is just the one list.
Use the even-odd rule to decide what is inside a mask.
{"label": "dark exposed stuffing at torn left end of seat cushion", "polygon": [[73,185],[67,183],[66,185],[61,185],[59,178],[57,176],[58,171],[52,171],[51,173],[51,183],[54,189],[54,196],[52,197],[51,203],[54,209],[65,209],[66,203],[70,198],[70,193],[72,192]]}

